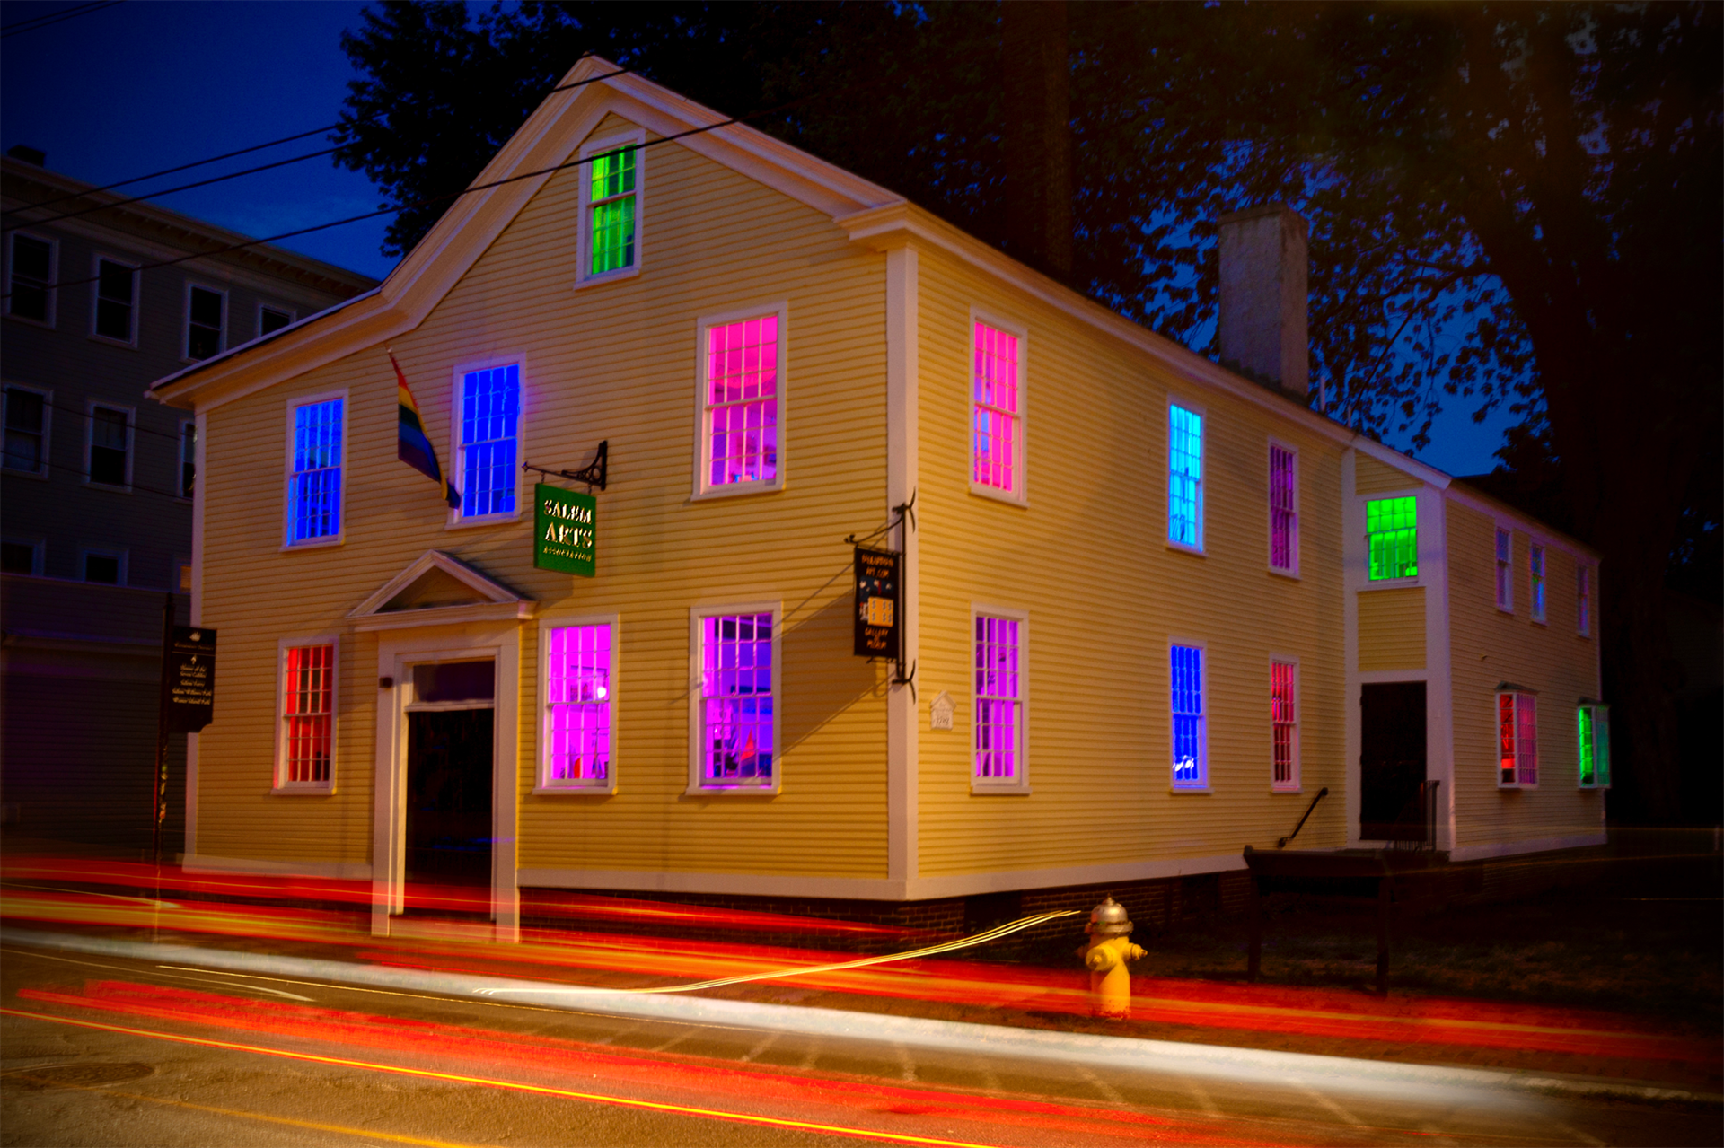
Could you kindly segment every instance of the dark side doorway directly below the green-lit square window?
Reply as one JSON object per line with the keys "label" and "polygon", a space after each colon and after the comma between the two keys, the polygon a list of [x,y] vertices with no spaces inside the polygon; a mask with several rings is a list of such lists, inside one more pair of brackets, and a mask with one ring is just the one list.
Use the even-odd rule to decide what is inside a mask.
{"label": "dark side doorway directly below the green-lit square window", "polygon": [[1359,836],[1424,841],[1424,683],[1360,686]]}

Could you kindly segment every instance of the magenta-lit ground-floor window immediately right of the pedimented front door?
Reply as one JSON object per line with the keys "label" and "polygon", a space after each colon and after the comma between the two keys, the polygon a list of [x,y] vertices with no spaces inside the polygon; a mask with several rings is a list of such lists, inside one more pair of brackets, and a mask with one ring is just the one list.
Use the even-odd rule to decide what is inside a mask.
{"label": "magenta-lit ground-floor window immediately right of the pedimented front door", "polygon": [[610,786],[610,626],[545,631],[545,786]]}

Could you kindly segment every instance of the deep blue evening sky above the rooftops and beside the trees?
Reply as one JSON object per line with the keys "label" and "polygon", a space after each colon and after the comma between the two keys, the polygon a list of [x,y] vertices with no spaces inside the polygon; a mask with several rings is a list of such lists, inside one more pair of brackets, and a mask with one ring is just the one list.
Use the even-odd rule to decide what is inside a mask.
{"label": "deep blue evening sky above the rooftops and beside the trees", "polygon": [[[12,0],[0,22],[72,5]],[[359,26],[362,9],[364,0],[126,0],[0,40],[0,150],[28,143],[48,153],[50,169],[105,184],[331,124],[353,78],[341,31]],[[312,136],[138,184],[134,193],[324,147]],[[372,210],[383,197],[365,176],[319,157],[160,202],[269,236]],[[284,246],[381,279],[395,265],[378,250],[386,222],[379,215]],[[1419,457],[1450,474],[1490,471],[1510,422],[1498,414],[1474,426],[1469,410],[1452,403]]]}

